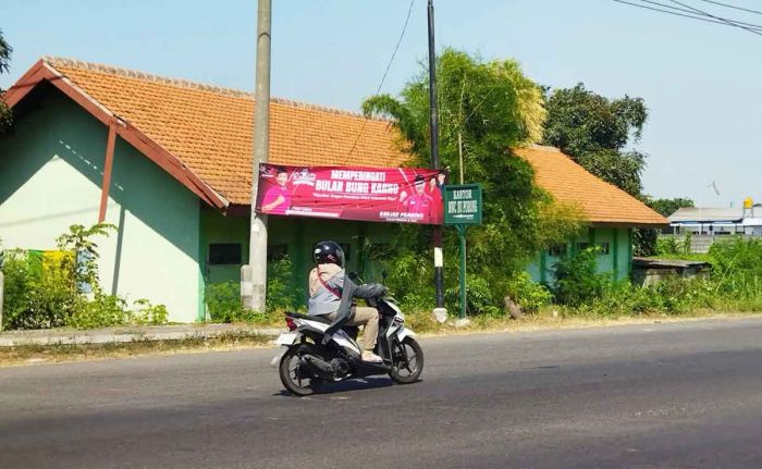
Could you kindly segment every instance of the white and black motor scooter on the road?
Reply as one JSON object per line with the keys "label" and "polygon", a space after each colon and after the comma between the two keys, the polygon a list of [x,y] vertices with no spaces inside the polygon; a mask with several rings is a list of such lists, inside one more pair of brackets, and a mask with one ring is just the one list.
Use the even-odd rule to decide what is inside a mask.
{"label": "white and black motor scooter on the road", "polygon": [[327,382],[389,374],[398,384],[416,382],[423,371],[423,350],[405,328],[405,316],[391,297],[366,300],[379,311],[379,335],[373,351],[382,362],[362,361],[357,345],[356,326],[343,326],[325,335],[331,321],[320,316],[286,312],[288,332],[276,343],[282,351],[273,359],[285,388],[297,396],[308,396]]}

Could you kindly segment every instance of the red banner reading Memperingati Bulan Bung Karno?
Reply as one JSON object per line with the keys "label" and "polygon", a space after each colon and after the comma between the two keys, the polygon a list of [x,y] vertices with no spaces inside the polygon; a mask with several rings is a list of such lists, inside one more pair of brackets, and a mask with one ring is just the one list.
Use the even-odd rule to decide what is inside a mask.
{"label": "red banner reading Memperingati Bulan Bung Karno", "polygon": [[441,224],[437,170],[414,168],[259,166],[257,211],[373,222]]}

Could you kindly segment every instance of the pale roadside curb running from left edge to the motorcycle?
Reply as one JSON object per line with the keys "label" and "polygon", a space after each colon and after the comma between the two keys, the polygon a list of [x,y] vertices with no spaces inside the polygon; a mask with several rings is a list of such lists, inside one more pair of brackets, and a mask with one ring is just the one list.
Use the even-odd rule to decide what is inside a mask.
{"label": "pale roadside curb running from left edge to the motorcycle", "polygon": [[0,347],[29,345],[119,344],[130,342],[183,341],[230,335],[276,337],[284,329],[246,325],[163,325],[146,328],[109,328],[93,331],[44,330],[0,332]]}

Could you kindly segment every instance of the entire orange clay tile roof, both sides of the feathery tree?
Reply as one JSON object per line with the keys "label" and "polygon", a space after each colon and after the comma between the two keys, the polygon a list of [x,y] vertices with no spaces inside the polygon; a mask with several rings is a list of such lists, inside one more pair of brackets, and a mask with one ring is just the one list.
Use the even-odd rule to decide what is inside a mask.
{"label": "entire orange clay tile roof, both sides of the feathery tree", "polygon": [[[229,201],[248,205],[254,127],[250,94],[69,59],[45,61],[177,157]],[[389,121],[284,99],[271,101],[270,120],[272,163],[398,166],[409,159]],[[532,164],[541,187],[562,202],[580,206],[590,222],[668,223],[556,148],[532,146],[515,153]]]}

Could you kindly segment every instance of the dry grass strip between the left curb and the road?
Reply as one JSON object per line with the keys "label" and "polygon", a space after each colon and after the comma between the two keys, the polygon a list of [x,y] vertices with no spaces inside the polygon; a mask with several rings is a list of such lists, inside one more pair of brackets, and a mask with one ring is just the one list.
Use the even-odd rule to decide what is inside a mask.
{"label": "dry grass strip between the left curb and the road", "polygon": [[0,347],[0,367],[101,360],[106,358],[175,355],[268,346],[272,337],[257,333],[230,333],[212,338],[135,341],[111,344],[22,345]]}

